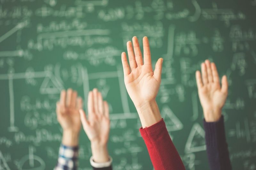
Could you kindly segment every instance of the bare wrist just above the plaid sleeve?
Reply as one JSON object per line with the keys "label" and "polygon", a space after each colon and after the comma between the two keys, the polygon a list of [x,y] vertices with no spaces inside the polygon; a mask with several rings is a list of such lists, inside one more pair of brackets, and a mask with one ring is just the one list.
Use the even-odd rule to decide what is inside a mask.
{"label": "bare wrist just above the plaid sleeve", "polygon": [[79,132],[73,130],[63,130],[62,144],[74,147],[79,143]]}

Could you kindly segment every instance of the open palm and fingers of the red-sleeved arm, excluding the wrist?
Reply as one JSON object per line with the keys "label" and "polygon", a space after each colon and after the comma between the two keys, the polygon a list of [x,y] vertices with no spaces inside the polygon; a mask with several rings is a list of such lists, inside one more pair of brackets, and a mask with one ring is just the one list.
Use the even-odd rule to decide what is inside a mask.
{"label": "open palm and fingers of the red-sleeved arm, excluding the wrist", "polygon": [[127,42],[130,66],[125,52],[122,53],[124,83],[135,106],[140,106],[156,98],[161,83],[163,59],[158,59],[153,72],[148,38],[143,38],[144,63],[137,37],[133,37],[132,42]]}

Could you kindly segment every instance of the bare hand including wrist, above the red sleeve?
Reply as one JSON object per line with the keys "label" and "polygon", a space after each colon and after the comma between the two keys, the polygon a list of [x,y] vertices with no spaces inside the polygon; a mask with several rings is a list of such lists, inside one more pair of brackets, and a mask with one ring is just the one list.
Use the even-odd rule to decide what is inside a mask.
{"label": "bare hand including wrist, above the red sleeve", "polygon": [[[142,126],[146,127],[161,120],[161,115],[156,104],[156,95],[161,83],[163,58],[158,59],[153,72],[148,38],[143,38],[144,63],[137,37],[133,37],[132,42],[127,42],[130,66],[125,52],[122,53],[124,83],[139,113]],[[151,110],[148,110],[149,108]]]}

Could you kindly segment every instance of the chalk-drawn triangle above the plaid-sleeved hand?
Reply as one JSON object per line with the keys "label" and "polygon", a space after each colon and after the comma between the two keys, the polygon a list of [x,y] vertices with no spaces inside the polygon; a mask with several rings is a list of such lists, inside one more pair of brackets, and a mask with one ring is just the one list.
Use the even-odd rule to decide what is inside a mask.
{"label": "chalk-drawn triangle above the plaid-sleeved hand", "polygon": [[62,85],[60,85],[55,78],[52,76],[46,76],[44,81],[40,87],[40,93],[42,94],[56,94],[60,93],[63,89]]}

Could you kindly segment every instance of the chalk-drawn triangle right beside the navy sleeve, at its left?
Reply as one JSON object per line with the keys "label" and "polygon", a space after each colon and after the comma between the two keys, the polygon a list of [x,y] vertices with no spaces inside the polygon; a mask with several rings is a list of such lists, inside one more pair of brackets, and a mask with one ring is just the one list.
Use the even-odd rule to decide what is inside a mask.
{"label": "chalk-drawn triangle right beside the navy sleeve, at its left", "polygon": [[185,153],[204,151],[206,149],[204,136],[204,129],[195,123],[188,135]]}

